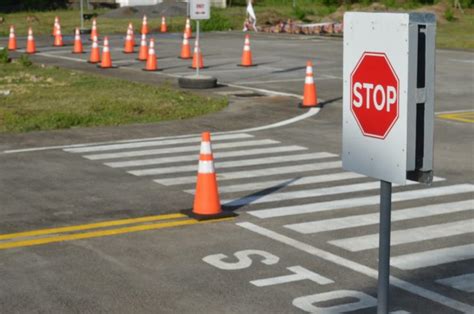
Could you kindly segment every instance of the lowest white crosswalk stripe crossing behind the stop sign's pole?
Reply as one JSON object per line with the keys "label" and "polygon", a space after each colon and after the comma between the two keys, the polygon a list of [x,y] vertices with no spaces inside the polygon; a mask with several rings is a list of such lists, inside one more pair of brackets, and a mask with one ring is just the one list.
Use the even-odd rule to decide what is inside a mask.
{"label": "lowest white crosswalk stripe crossing behind the stop sign's pole", "polygon": [[[390,246],[421,242],[474,232],[474,219],[428,225],[391,232]],[[351,252],[376,249],[379,247],[379,234],[369,234],[329,241],[328,243]]]}

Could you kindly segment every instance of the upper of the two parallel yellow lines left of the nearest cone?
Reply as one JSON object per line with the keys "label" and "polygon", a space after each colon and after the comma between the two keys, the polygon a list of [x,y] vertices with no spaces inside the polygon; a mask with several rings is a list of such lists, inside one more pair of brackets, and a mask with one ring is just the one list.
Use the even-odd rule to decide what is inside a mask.
{"label": "upper of the two parallel yellow lines left of the nearest cone", "polygon": [[32,237],[32,236],[38,236],[38,235],[56,234],[56,233],[64,233],[64,232],[72,232],[72,231],[98,229],[98,228],[104,228],[104,227],[129,225],[129,224],[140,223],[140,222],[151,222],[151,221],[159,221],[159,220],[167,220],[167,219],[177,219],[177,218],[183,218],[183,217],[187,217],[187,216],[185,216],[183,214],[167,214],[167,215],[156,215],[156,216],[140,217],[140,218],[111,220],[111,221],[104,221],[104,222],[85,224],[85,225],[40,229],[40,230],[17,232],[17,233],[10,233],[10,234],[1,234],[0,235],[0,240],[15,239],[15,238],[20,238],[20,237]]}

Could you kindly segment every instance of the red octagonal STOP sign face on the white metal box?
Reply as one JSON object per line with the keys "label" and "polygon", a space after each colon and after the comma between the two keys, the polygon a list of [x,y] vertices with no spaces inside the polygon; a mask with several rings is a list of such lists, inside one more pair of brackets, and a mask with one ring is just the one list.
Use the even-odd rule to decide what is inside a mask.
{"label": "red octagonal STOP sign face on the white metal box", "polygon": [[350,79],[350,107],[359,128],[384,139],[399,114],[399,80],[390,61],[384,53],[364,52]]}

